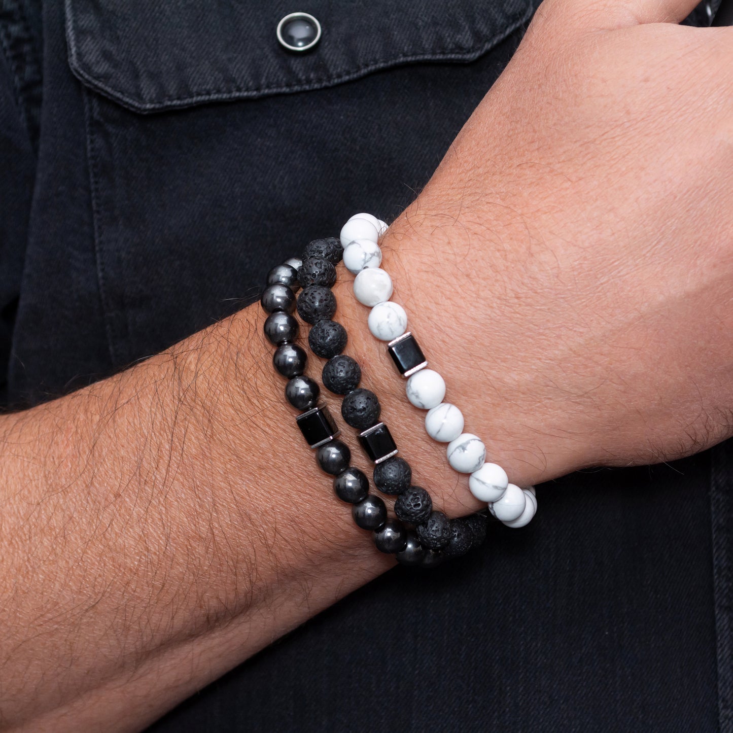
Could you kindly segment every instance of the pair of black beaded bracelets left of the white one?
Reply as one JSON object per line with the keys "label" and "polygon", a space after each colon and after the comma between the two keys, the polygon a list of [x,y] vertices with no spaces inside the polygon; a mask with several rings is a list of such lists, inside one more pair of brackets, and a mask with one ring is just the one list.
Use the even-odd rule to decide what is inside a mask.
{"label": "pair of black beaded bracelets left of the white one", "polygon": [[[269,314],[265,335],[276,346],[273,366],[287,377],[286,399],[301,411],[296,417],[298,427],[316,450],[320,467],[334,476],[336,496],[352,504],[357,526],[372,531],[377,549],[393,553],[402,564],[432,567],[482,544],[486,520],[482,515],[449,520],[443,512],[432,509],[430,494],[411,485],[410,465],[397,456],[388,427],[379,421],[381,407],[376,395],[358,387],[361,369],[343,353],[347,334],[340,323],[332,320],[336,298],[331,287],[336,282],[335,265],[341,261],[342,252],[340,241],[334,237],[314,240],[302,259],[289,259],[270,270],[261,303]],[[302,290],[296,298],[299,287]],[[384,501],[369,494],[367,476],[350,465],[350,449],[337,440],[340,431],[336,422],[325,403],[319,402],[320,386],[304,374],[307,356],[294,343],[300,328],[293,315],[296,303],[301,318],[312,324],[308,339],[312,351],[328,359],[323,367],[323,384],[335,394],[344,395],[342,416],[361,431],[358,441],[375,463],[377,488],[397,495],[397,518],[388,517]]]}

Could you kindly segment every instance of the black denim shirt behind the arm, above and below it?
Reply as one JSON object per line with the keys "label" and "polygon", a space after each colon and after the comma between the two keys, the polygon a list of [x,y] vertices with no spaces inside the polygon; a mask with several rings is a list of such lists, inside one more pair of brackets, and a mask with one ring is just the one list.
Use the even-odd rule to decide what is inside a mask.
{"label": "black denim shirt behind the arm, above and below it", "polygon": [[[8,405],[251,302],[356,211],[393,218],[533,10],[314,2],[323,40],[290,56],[275,26],[299,8],[279,1],[0,9]],[[707,21],[704,6],[691,20]],[[388,572],[151,731],[729,732],[731,450],[539,487],[528,528],[498,526],[430,574]]]}

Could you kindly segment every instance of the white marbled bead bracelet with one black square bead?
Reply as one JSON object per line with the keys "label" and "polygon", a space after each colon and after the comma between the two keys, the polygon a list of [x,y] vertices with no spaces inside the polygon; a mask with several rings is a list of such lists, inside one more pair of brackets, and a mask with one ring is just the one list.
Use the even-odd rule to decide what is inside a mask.
{"label": "white marbled bead bracelet with one black square bead", "polygon": [[415,337],[407,330],[408,315],[393,303],[392,279],[383,270],[380,237],[387,224],[372,214],[352,216],[341,230],[344,264],[354,278],[354,296],[368,306],[369,331],[387,342],[388,353],[399,373],[407,379],[407,397],[421,410],[427,410],[425,430],[440,443],[448,443],[448,463],[461,474],[469,474],[468,489],[485,501],[489,512],[508,527],[523,527],[537,512],[534,487],[522,489],[509,483],[507,472],[496,463],[486,462],[486,446],[471,432],[463,432],[463,413],[451,402],[444,402],[446,383],[433,369]]}

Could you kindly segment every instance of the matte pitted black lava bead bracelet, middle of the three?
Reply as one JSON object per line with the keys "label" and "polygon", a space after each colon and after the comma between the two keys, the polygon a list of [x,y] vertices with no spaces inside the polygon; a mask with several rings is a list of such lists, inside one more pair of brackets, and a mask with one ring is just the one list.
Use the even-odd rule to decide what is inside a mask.
{"label": "matte pitted black lava bead bracelet, middle of the three", "polygon": [[[341,248],[334,247],[328,253],[329,261],[325,262],[320,257],[310,257],[314,254],[313,245],[306,248],[298,270],[299,280],[306,289],[298,296],[297,309],[306,323],[313,324],[308,337],[313,352],[328,359],[323,367],[323,385],[334,394],[344,395],[342,417],[360,431],[358,440],[375,463],[375,485],[383,493],[397,494],[394,509],[398,519],[416,526],[415,537],[412,537],[407,534],[411,531],[401,523],[387,520],[383,528],[375,531],[375,545],[383,552],[397,553],[397,559],[405,564],[420,561],[420,545],[433,554],[442,550],[445,556],[463,555],[482,542],[485,533],[472,534],[465,520],[449,520],[443,512],[434,511],[427,491],[411,485],[410,465],[397,457],[397,445],[391,432],[379,421],[379,399],[372,391],[358,386],[361,368],[353,358],[342,353],[347,334],[340,323],[331,320],[336,311],[335,297],[332,301],[322,292],[324,288],[333,287],[336,281],[335,269],[331,272],[331,268],[340,261]],[[317,273],[316,276],[313,273]],[[355,518],[359,509],[358,504],[353,508]],[[476,526],[476,522],[471,526]],[[432,560],[435,562],[434,558]]]}

